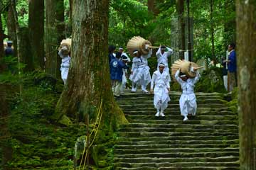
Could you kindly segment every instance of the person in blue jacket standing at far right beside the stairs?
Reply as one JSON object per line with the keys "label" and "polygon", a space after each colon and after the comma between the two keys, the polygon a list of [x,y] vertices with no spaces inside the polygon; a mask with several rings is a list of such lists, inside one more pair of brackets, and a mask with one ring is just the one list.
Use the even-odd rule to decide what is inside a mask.
{"label": "person in blue jacket standing at far right beside the stairs", "polygon": [[237,86],[237,78],[236,78],[236,72],[237,72],[237,64],[236,64],[236,54],[235,54],[235,43],[230,43],[228,45],[228,60],[225,62],[228,62],[228,80],[229,80],[229,91],[233,91],[234,87]]}

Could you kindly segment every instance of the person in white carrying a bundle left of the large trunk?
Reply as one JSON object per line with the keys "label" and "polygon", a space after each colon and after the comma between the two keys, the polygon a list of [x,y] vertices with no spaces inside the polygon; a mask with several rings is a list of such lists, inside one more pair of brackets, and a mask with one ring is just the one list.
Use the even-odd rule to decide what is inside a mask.
{"label": "person in white carrying a bundle left of the large trunk", "polygon": [[60,57],[62,58],[60,64],[61,79],[63,79],[64,84],[66,84],[68,79],[68,69],[70,67],[70,56],[68,52],[68,47],[61,47],[58,55],[60,55]]}

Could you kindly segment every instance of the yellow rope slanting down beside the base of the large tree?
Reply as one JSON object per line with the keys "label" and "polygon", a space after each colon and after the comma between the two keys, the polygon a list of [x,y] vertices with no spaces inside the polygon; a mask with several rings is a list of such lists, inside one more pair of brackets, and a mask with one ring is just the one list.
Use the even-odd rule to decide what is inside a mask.
{"label": "yellow rope slanting down beside the base of the large tree", "polygon": [[[83,166],[82,166],[82,169],[85,169],[85,162],[86,162],[86,159],[87,159],[88,151],[89,151],[90,147],[92,147],[92,144],[93,144],[93,142],[95,141],[95,138],[96,138],[96,136],[97,136],[97,132],[98,132],[98,130],[99,130],[99,128],[100,128],[100,123],[101,123],[101,119],[102,119],[102,115],[103,115],[102,113],[103,113],[103,110],[102,110],[102,100],[101,100],[101,102],[100,102],[100,107],[99,107],[98,110],[97,110],[97,119],[96,119],[96,121],[95,121],[95,125],[94,125],[94,127],[93,127],[93,129],[92,129],[92,132],[90,133],[89,137],[87,137],[87,139],[86,139],[86,141],[85,141],[85,144],[88,142],[88,140],[90,141],[90,137],[92,136],[92,133],[93,133],[93,132],[95,131],[95,129],[96,129],[95,136],[93,137],[92,142],[91,142],[90,145],[87,147],[87,149],[86,149],[86,147],[84,147],[84,150],[83,150],[83,152],[82,152],[82,159],[84,159],[84,156],[85,156],[85,161],[84,161],[84,164],[83,164]],[[82,159],[81,159],[81,161],[80,161],[79,170],[80,170],[81,165],[82,165]]]}

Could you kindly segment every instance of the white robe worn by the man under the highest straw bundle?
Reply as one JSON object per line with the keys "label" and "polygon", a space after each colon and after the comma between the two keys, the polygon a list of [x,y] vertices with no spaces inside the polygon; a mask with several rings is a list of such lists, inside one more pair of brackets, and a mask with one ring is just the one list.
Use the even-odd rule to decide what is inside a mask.
{"label": "white robe worn by the man under the highest straw bundle", "polygon": [[151,81],[147,59],[151,57],[152,51],[148,55],[134,57],[132,59],[132,74],[129,79],[135,84],[147,86]]}

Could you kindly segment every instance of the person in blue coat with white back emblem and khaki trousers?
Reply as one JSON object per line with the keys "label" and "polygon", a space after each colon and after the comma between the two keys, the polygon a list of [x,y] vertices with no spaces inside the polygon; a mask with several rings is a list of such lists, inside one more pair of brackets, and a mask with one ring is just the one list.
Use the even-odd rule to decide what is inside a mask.
{"label": "person in blue coat with white back emblem and khaki trousers", "polygon": [[116,57],[110,62],[110,79],[112,80],[112,91],[118,97],[121,93],[123,69],[128,69],[127,65],[119,60],[122,53],[117,52]]}

